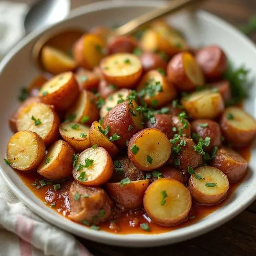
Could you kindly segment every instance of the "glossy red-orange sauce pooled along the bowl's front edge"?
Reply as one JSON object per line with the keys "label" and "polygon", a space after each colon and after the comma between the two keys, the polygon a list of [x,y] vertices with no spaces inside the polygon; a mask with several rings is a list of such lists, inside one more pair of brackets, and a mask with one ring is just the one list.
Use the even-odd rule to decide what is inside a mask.
{"label": "glossy red-orange sauce pooled along the bowl's front edge", "polygon": [[[240,153],[247,161],[249,161],[250,147],[243,148],[242,150],[240,150]],[[38,180],[38,182],[42,180],[42,177],[39,174],[37,174],[36,172],[32,172],[32,173],[17,172],[17,173],[20,179],[23,180],[26,186],[33,192],[33,194],[37,198],[39,198],[49,207],[51,207],[52,205],[53,207],[51,208],[53,210],[57,211],[59,214],[68,218],[68,215],[70,212],[70,205],[69,205],[69,199],[68,199],[69,187],[73,179],[61,182],[61,188],[55,191],[53,188],[53,184],[59,184],[59,182],[54,182],[53,184],[36,188],[36,186],[33,186],[31,184],[36,179]],[[232,195],[233,191],[236,190],[236,188],[239,186],[241,182],[243,182],[243,180],[237,183],[230,183],[230,188],[228,191],[227,198],[229,198]],[[113,218],[112,221],[107,221],[103,224],[100,224],[99,227],[101,230],[118,233],[118,234],[129,234],[129,233],[151,233],[152,234],[152,233],[167,232],[180,227],[188,226],[190,224],[193,224],[199,221],[205,216],[216,211],[218,208],[222,207],[222,205],[225,204],[225,201],[226,200],[214,206],[204,206],[204,205],[193,203],[188,220],[174,227],[162,227],[157,224],[151,223],[150,218],[146,217],[146,215],[142,210],[119,212],[118,214],[116,214],[116,216]],[[141,223],[148,223],[148,225],[150,226],[151,232],[142,230],[140,228]]]}

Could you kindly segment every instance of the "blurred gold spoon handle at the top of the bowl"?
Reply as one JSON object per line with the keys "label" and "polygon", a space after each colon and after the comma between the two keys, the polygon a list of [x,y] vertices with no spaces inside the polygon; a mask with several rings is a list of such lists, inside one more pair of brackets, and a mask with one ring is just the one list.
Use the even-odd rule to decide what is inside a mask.
{"label": "blurred gold spoon handle at the top of the bowl", "polygon": [[116,35],[127,35],[133,33],[139,27],[152,22],[152,20],[161,18],[163,16],[172,14],[177,12],[183,8],[191,6],[195,3],[201,2],[202,0],[173,0],[167,6],[156,9],[152,12],[145,13],[138,18],[131,20],[130,22],[125,23],[124,25],[120,26],[119,28],[115,29]]}

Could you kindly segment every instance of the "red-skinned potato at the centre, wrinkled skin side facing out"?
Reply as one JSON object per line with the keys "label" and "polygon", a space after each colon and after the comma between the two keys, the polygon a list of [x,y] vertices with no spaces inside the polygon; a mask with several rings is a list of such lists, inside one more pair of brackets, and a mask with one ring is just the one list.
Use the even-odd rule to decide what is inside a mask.
{"label": "red-skinned potato at the centre, wrinkled skin side facing out", "polygon": [[126,147],[126,140],[142,130],[142,115],[136,110],[134,100],[126,100],[109,111],[104,117],[103,127],[109,126],[109,136],[116,145]]}

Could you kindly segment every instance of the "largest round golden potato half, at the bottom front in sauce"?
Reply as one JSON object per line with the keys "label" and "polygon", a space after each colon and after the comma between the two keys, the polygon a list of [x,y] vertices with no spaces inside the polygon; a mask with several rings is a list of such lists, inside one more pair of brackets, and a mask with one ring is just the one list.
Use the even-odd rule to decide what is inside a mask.
{"label": "largest round golden potato half, at the bottom front in sauce", "polygon": [[145,191],[143,206],[153,222],[174,226],[187,219],[192,200],[189,190],[179,181],[162,178]]}

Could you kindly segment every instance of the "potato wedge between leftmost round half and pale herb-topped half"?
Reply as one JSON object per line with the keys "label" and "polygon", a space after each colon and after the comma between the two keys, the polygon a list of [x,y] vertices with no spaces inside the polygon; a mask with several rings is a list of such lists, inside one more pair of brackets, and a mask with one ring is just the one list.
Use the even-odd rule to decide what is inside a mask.
{"label": "potato wedge between leftmost round half and pale herb-topped half", "polygon": [[62,180],[72,175],[74,148],[66,141],[57,140],[48,150],[37,173],[48,180]]}

